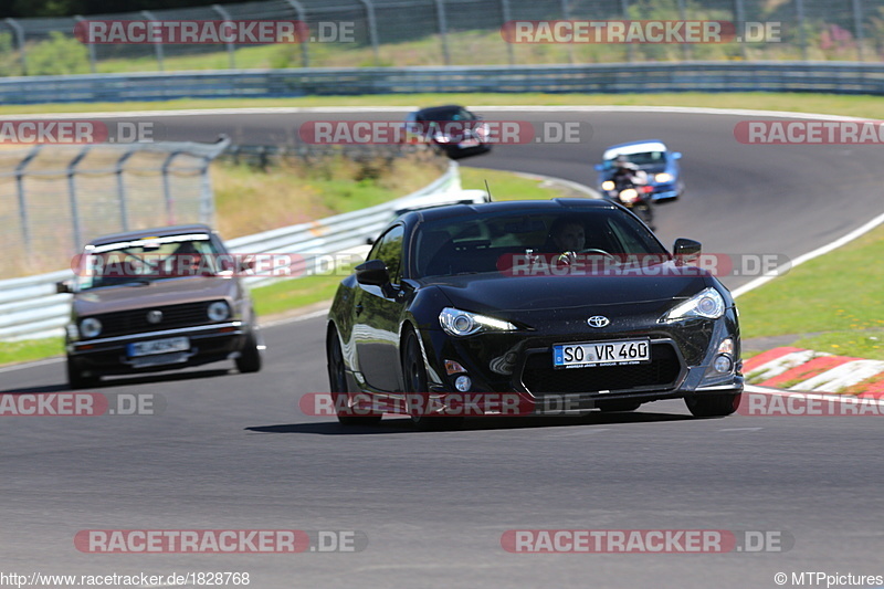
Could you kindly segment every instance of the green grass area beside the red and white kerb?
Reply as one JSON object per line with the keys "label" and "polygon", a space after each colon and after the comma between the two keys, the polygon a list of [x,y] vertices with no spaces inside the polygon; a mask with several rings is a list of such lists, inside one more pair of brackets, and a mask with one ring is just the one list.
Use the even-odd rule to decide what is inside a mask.
{"label": "green grass area beside the red and white kerb", "polygon": [[884,360],[884,227],[792,269],[737,301],[744,339]]}

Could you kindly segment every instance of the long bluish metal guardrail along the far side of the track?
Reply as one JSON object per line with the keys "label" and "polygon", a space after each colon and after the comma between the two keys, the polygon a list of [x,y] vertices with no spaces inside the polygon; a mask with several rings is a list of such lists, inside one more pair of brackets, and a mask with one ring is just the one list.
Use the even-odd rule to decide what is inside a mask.
{"label": "long bluish metal guardrail along the far side of the track", "polygon": [[660,62],[31,76],[0,78],[0,104],[391,93],[688,91],[884,94],[884,63]]}

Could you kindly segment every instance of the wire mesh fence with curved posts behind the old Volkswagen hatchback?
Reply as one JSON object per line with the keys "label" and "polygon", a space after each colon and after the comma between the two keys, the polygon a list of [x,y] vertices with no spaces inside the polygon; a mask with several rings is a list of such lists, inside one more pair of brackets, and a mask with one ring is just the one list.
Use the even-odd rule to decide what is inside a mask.
{"label": "wire mesh fence with curved posts behind the old Volkswagen hatchback", "polygon": [[208,168],[228,145],[0,149],[0,275],[57,270],[96,235],[211,223]]}

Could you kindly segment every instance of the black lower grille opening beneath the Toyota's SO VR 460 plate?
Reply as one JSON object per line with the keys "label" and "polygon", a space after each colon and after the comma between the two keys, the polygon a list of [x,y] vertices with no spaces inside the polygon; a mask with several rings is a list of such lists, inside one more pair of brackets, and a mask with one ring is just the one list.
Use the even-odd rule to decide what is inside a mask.
{"label": "black lower grille opening beneath the Toyota's SO VR 460 plate", "polygon": [[594,368],[552,368],[551,350],[530,354],[522,370],[522,383],[533,395],[564,392],[667,390],[675,386],[682,365],[672,344],[652,344],[651,362]]}

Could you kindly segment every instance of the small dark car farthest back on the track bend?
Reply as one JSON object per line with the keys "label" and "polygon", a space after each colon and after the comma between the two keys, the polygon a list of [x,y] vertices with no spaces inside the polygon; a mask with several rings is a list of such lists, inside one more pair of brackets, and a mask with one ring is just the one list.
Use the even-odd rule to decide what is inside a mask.
{"label": "small dark car farthest back on the track bend", "polygon": [[406,137],[409,143],[434,145],[454,159],[491,150],[488,125],[456,104],[409,113]]}

